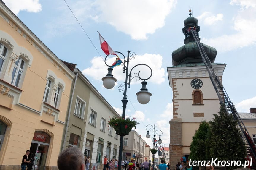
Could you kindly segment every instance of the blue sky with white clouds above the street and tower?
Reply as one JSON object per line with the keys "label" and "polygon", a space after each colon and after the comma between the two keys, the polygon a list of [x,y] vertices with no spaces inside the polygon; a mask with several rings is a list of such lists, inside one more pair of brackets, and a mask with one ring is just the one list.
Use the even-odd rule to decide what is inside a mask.
{"label": "blue sky with white clouds above the street and tower", "polygon": [[[172,66],[172,51],[183,46],[183,21],[189,17],[189,9],[198,19],[201,42],[217,50],[215,63],[227,64],[223,86],[237,111],[256,108],[255,0],[66,0],[86,33],[64,0],[3,1],[59,59],[77,64],[120,114],[123,94],[118,83],[111,90],[102,85],[101,78],[107,74],[106,55],[97,31],[114,51],[127,56],[129,50],[137,55],[129,63],[130,69],[136,64],[149,65],[153,72],[147,80],[150,102],[139,104],[136,93],[141,83],[133,79],[127,90],[126,114],[137,119],[140,124],[135,130],[151,147],[152,138],[145,137],[148,124],[163,132],[166,147],[170,143],[173,105],[166,68]],[[106,62],[111,65],[114,60],[115,56],[109,56]],[[138,71],[143,78],[150,75],[147,67],[136,67],[132,73]],[[112,73],[120,84],[125,82],[121,66]]]}

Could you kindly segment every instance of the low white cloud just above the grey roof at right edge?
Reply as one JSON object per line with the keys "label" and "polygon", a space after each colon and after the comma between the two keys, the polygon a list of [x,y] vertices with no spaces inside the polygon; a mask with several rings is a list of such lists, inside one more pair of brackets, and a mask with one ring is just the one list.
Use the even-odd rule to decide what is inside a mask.
{"label": "low white cloud just above the grey roof at right edge", "polygon": [[235,104],[238,112],[250,112],[250,108],[256,108],[256,96]]}

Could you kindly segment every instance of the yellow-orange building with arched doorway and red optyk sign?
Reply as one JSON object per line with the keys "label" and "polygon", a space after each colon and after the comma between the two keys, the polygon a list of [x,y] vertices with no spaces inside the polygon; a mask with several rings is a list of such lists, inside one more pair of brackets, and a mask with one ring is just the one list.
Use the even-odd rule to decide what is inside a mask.
{"label": "yellow-orange building with arched doorway and red optyk sign", "polygon": [[57,169],[74,74],[0,1],[0,169]]}

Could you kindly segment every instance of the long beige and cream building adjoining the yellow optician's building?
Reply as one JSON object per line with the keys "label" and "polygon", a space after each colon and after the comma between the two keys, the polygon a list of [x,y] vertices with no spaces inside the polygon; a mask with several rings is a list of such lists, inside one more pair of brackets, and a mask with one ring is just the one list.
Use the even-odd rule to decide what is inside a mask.
{"label": "long beige and cream building adjoining the yellow optician's building", "polygon": [[76,75],[72,86],[67,128],[63,134],[63,147],[79,147],[91,163],[102,169],[104,156],[118,158],[120,136],[109,127],[109,117],[120,117],[96,88],[75,68],[76,64],[63,61]]}

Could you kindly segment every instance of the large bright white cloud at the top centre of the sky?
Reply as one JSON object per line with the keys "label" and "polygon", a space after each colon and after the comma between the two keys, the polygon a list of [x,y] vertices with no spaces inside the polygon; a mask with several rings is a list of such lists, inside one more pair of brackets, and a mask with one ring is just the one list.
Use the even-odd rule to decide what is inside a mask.
{"label": "large bright white cloud at the top centre of the sky", "polygon": [[176,4],[176,0],[96,0],[94,5],[101,12],[97,20],[139,40],[163,27]]}

